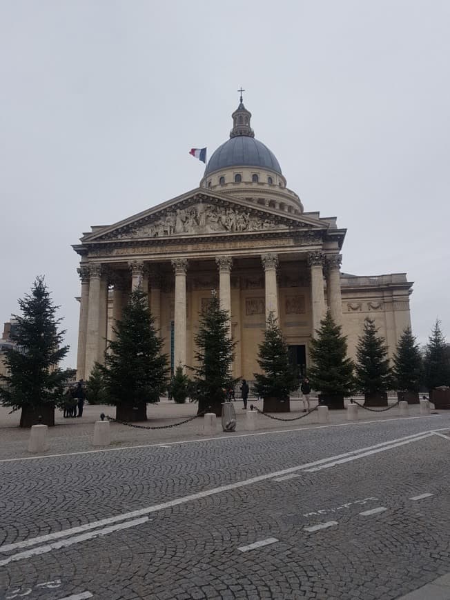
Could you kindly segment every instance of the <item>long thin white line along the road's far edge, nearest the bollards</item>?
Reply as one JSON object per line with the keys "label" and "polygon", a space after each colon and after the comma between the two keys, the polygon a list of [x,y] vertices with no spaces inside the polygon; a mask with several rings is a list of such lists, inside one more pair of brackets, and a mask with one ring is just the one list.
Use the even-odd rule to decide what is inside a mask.
{"label": "long thin white line along the road's far edge, nearest the bollards", "polygon": [[[166,443],[167,446],[177,446],[183,443],[203,443],[205,441],[222,441],[224,439],[236,439],[239,437],[254,437],[257,435],[271,435],[277,433],[291,433],[293,431],[308,431],[314,429],[326,429],[330,427],[353,427],[358,425],[369,425],[371,423],[386,423],[391,421],[408,421],[410,419],[433,419],[433,415],[431,414],[422,414],[418,417],[395,417],[395,419],[373,419],[372,421],[355,421],[354,423],[333,423],[333,425],[317,425],[317,426],[309,426],[309,427],[297,427],[294,429],[277,429],[271,431],[259,431],[256,433],[242,433],[242,434],[228,434],[228,435],[219,435],[216,437],[205,437],[203,439],[185,439],[182,441],[169,441]],[[436,433],[438,431],[448,431],[447,427],[442,427],[440,429],[433,429],[431,432]],[[0,463],[12,463],[15,461],[37,461],[41,459],[55,459],[59,457],[75,457],[81,456],[83,454],[97,454],[97,452],[120,452],[121,450],[136,450],[138,448],[155,448],[155,446],[161,446],[161,443],[145,443],[137,446],[122,446],[121,448],[101,448],[101,450],[81,450],[79,452],[63,452],[61,454],[43,454],[39,457],[21,457],[17,459],[0,459]]]}

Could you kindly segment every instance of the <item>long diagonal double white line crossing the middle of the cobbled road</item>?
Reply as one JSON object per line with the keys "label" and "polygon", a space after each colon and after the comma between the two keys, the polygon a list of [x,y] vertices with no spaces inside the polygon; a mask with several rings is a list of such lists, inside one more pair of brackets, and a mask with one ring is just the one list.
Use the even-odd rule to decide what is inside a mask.
{"label": "long diagonal double white line crossing the middle of the cobbled road", "polygon": [[[429,434],[426,432],[427,435]],[[424,433],[413,434],[412,436],[407,436],[404,438],[399,438],[400,440],[411,440],[415,441],[418,436],[423,436]],[[420,437],[419,439],[422,439]],[[117,514],[115,517],[108,517],[106,519],[101,519],[100,521],[93,521],[92,523],[86,523],[86,525],[81,525],[76,528],[66,529],[62,531],[57,531],[53,533],[49,533],[42,536],[37,536],[34,538],[26,539],[23,541],[19,541],[12,544],[7,544],[5,546],[0,546],[0,552],[9,552],[10,550],[16,550],[18,548],[27,548],[29,546],[35,546],[39,543],[47,542],[52,539],[59,539],[61,537],[67,537],[70,534],[78,533],[81,531],[86,531],[89,529],[98,528],[110,523],[117,523],[119,521],[126,521],[126,519],[136,519],[139,517],[143,517],[144,515],[151,514],[152,512],[159,512],[160,510],[166,510],[166,508],[173,508],[173,506],[179,506],[180,504],[184,504],[186,502],[199,500],[202,498],[206,498],[208,496],[214,496],[215,494],[221,494],[222,492],[228,492],[230,490],[237,490],[238,488],[244,488],[246,486],[251,486],[253,483],[259,483],[260,481],[266,481],[267,479],[273,479],[274,477],[282,477],[283,475],[293,473],[296,471],[305,470],[307,471],[309,468],[314,467],[316,465],[322,465],[324,463],[329,463],[330,461],[335,461],[337,459],[341,459],[342,457],[351,457],[353,454],[358,454],[360,452],[364,452],[366,450],[371,450],[371,448],[380,448],[380,446],[386,446],[387,444],[391,444],[393,441],[391,440],[385,441],[382,443],[375,444],[375,446],[367,446],[366,448],[360,448],[358,450],[351,450],[351,452],[344,452],[344,454],[337,454],[334,457],[327,457],[326,459],[320,459],[318,461],[313,461],[311,463],[305,463],[304,465],[298,465],[294,467],[289,467],[287,469],[283,469],[280,471],[275,471],[271,473],[266,473],[264,475],[257,475],[256,477],[251,477],[250,479],[244,479],[242,481],[236,481],[235,483],[228,483],[224,486],[219,486],[218,488],[212,488],[211,490],[204,490],[203,492],[197,492],[196,494],[189,494],[188,496],[175,498],[174,500],[170,500],[167,502],[163,502],[160,504],[155,504],[153,506],[148,506],[146,508],[140,508],[138,510],[133,510],[131,512],[124,512],[122,514]],[[126,523],[125,523],[126,524]],[[94,532],[95,534],[96,532]],[[21,554],[26,554],[26,552],[22,552]],[[17,554],[16,556],[19,556]],[[25,558],[25,557],[24,557]],[[1,566],[1,563],[0,563]]]}

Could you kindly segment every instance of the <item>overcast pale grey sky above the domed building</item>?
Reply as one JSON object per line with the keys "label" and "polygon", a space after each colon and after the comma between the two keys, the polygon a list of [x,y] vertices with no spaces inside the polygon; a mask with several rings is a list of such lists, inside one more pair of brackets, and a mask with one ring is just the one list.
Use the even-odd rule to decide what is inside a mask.
{"label": "overcast pale grey sky above the domed building", "polygon": [[0,0],[0,320],[44,274],[75,366],[70,244],[196,188],[243,86],[342,270],[407,272],[450,337],[449,30],[448,0]]}

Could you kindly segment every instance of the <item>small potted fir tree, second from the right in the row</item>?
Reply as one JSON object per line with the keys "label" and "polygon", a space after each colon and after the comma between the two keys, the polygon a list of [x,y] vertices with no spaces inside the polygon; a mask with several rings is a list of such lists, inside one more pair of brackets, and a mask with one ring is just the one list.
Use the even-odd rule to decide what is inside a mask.
{"label": "small potted fir tree, second from the right in the row", "polygon": [[393,375],[397,388],[405,392],[418,392],[422,381],[422,357],[411,327],[407,327],[398,340],[393,355]]}

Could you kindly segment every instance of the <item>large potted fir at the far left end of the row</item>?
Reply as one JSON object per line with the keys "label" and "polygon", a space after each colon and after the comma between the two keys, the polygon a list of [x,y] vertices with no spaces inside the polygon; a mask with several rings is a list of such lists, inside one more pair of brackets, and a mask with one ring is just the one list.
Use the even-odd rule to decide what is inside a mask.
{"label": "large potted fir at the far left end of the row", "polygon": [[59,306],[54,306],[43,277],[37,277],[31,293],[19,300],[21,315],[11,330],[14,348],[5,352],[8,376],[0,375],[0,398],[4,406],[21,409],[21,427],[39,422],[55,425],[55,406],[63,406],[66,382],[74,371],[59,363],[68,353],[61,346],[65,331],[59,331]]}

